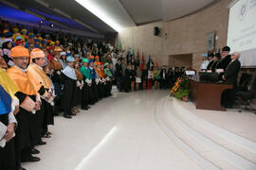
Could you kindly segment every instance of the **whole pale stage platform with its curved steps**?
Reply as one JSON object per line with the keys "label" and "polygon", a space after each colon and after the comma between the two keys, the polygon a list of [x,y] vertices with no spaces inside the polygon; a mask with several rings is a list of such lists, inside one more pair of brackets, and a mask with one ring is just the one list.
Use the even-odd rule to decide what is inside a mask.
{"label": "whole pale stage platform with its curved steps", "polygon": [[256,115],[196,110],[192,102],[162,98],[155,119],[172,141],[205,169],[256,169]]}

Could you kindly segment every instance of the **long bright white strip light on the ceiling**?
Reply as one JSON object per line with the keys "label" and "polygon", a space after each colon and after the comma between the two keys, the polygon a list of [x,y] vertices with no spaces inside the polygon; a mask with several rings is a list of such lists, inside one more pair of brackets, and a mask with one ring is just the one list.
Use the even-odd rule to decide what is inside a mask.
{"label": "long bright white strip light on the ceiling", "polygon": [[83,8],[88,9],[98,18],[100,18],[104,23],[108,26],[111,26],[116,31],[121,31],[122,27],[116,23],[112,17],[108,16],[108,14],[100,8],[93,0],[76,0]]}

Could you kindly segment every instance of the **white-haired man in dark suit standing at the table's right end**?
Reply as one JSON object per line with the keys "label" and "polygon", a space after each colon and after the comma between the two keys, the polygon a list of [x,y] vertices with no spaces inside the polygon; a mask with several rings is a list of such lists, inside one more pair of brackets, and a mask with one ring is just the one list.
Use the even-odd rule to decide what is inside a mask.
{"label": "white-haired man in dark suit standing at the table's right end", "polygon": [[240,53],[234,52],[231,54],[230,59],[232,60],[229,62],[229,65],[227,66],[224,75],[222,76],[224,82],[233,85],[233,89],[226,90],[224,93],[222,93],[222,106],[226,108],[232,108],[235,101],[234,94],[237,88],[237,78],[241,67],[239,58]]}

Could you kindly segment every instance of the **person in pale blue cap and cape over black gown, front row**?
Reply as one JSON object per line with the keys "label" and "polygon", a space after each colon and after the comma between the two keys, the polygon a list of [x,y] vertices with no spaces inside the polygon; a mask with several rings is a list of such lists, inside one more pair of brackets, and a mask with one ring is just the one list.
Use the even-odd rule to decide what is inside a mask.
{"label": "person in pale blue cap and cape over black gown, front row", "polygon": [[64,108],[64,118],[70,119],[76,113],[72,112],[74,92],[77,86],[77,76],[74,69],[75,59],[71,56],[66,58],[66,67],[62,71],[62,81],[64,84],[64,95],[62,104]]}

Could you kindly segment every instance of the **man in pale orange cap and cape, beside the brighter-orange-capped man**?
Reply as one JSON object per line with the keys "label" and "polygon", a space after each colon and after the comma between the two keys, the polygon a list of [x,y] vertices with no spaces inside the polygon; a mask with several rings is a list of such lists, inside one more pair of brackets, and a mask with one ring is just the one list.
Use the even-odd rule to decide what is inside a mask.
{"label": "man in pale orange cap and cape, beside the brighter-orange-capped man", "polygon": [[27,67],[27,76],[31,83],[33,84],[37,93],[41,97],[41,110],[38,110],[36,114],[33,114],[31,119],[35,123],[35,127],[38,128],[39,135],[35,144],[41,143],[41,136],[45,138],[50,137],[50,132],[48,132],[48,125],[54,125],[53,120],[53,110],[52,110],[52,92],[51,84],[43,70],[46,62],[46,56],[44,51],[39,48],[34,48],[30,53],[30,64]]}

